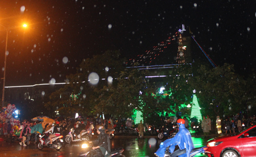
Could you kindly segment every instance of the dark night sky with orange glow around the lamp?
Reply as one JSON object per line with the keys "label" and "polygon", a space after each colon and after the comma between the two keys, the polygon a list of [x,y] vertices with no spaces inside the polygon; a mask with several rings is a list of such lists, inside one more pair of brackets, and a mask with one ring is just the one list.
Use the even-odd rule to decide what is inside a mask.
{"label": "dark night sky with orange glow around the lamp", "polygon": [[[52,78],[64,82],[82,59],[108,49],[119,49],[128,59],[146,55],[175,35],[181,24],[187,30],[190,27],[217,65],[234,64],[237,72],[247,75],[255,67],[255,6],[255,1],[246,0],[1,1],[0,24],[15,27],[8,38],[6,86],[48,83]],[[26,29],[18,27],[22,22],[27,22]],[[1,26],[1,77],[5,41],[6,30]],[[203,53],[195,42],[192,45],[197,61]],[[175,59],[170,56],[177,49],[169,49],[170,54],[164,54],[172,64]]]}

